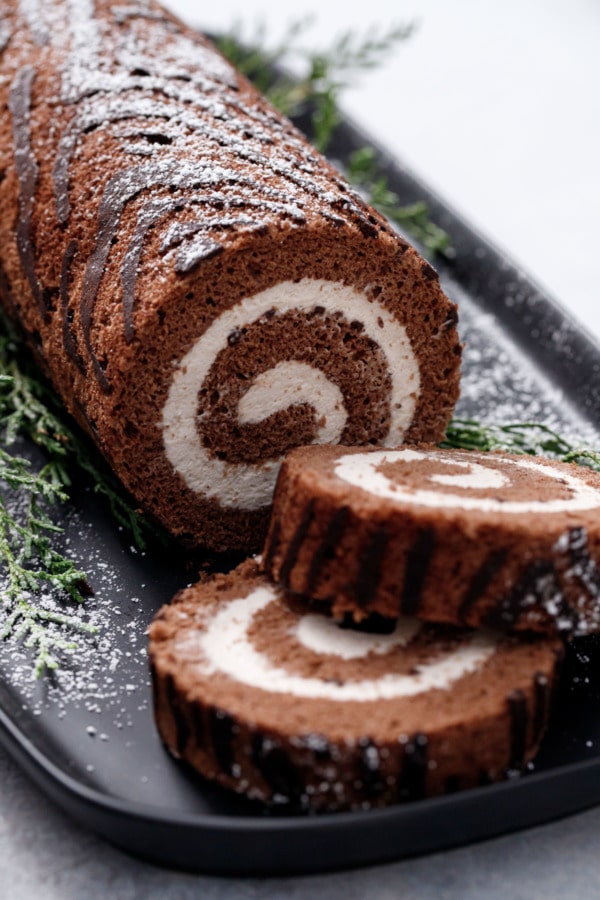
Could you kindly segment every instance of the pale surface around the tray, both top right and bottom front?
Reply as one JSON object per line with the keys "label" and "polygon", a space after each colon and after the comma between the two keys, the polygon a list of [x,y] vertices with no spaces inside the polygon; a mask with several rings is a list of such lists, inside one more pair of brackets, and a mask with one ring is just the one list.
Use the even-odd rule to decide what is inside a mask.
{"label": "pale surface around the tray, both top right and bottom front", "polygon": [[[223,29],[285,4],[222,0],[188,19]],[[306,2],[315,44],[341,24],[415,19],[415,36],[347,94],[346,109],[600,336],[600,10],[593,0]],[[310,878],[171,872],[68,820],[0,751],[0,897],[554,898],[600,896],[600,809],[445,853]]]}

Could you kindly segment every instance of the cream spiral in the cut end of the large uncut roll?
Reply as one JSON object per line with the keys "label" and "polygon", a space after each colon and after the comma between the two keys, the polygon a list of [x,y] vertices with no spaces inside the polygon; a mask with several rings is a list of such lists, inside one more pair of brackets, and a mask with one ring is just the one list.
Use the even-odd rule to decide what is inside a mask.
{"label": "cream spiral in the cut end of the large uncut roll", "polygon": [[[190,490],[217,500],[222,506],[238,509],[259,509],[271,502],[281,460],[246,465],[213,457],[202,444],[203,417],[198,416],[198,393],[218,354],[228,346],[232,331],[250,326],[270,310],[275,310],[275,315],[308,313],[317,306],[329,315],[340,313],[348,322],[361,322],[363,333],[381,349],[392,382],[391,422],[384,444],[402,442],[420,391],[419,366],[406,329],[380,303],[353,287],[311,278],[285,281],[246,297],[221,313],[177,364],[160,425],[167,458]],[[291,334],[290,349],[293,339]],[[308,370],[314,373],[310,380]],[[294,381],[300,386],[297,393],[293,390]],[[341,392],[322,372],[306,364],[280,362],[269,373],[257,377],[240,401],[238,421],[260,422],[283,409],[285,403],[306,402],[315,407],[317,420],[326,422],[324,428],[319,428],[314,443],[336,443],[348,415]]]}

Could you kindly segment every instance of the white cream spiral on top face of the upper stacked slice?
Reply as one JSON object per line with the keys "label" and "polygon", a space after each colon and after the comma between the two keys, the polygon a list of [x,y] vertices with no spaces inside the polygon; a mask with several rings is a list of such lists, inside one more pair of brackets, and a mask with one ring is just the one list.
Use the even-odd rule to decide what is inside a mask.
{"label": "white cream spiral on top face of the upper stacked slice", "polygon": [[[510,474],[500,473],[491,466],[486,466],[489,457],[483,453],[473,453],[476,462],[457,462],[448,457],[444,451],[419,450],[382,450],[375,453],[356,453],[341,456],[335,464],[335,474],[342,481],[353,487],[373,494],[382,499],[395,500],[398,503],[411,503],[418,506],[433,507],[458,507],[459,509],[476,509],[482,512],[503,513],[556,513],[571,512],[600,507],[600,491],[591,487],[576,475],[558,471],[543,463],[535,462],[529,458],[503,459],[507,467],[525,469],[538,475],[544,475],[551,481],[566,485],[571,496],[563,500],[502,500],[496,497],[477,497],[464,494],[451,494],[425,488],[410,488],[407,485],[398,484],[379,471],[384,463],[417,462],[420,460],[434,459],[443,466],[461,466],[469,469],[467,475],[434,474],[431,481],[437,481],[445,486],[467,488],[474,493],[477,490],[489,490],[510,484]],[[500,476],[499,478],[497,476]],[[502,481],[500,480],[502,479]]]}

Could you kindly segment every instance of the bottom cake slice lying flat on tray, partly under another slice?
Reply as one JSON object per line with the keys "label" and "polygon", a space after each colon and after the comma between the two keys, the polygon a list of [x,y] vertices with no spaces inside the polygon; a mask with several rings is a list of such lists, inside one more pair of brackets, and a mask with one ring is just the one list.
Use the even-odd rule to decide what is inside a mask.
{"label": "bottom cake slice lying flat on tray, partly under another slice", "polygon": [[541,740],[562,642],[400,619],[343,629],[252,561],[150,628],[155,715],[178,758],[269,804],[336,810],[518,772]]}

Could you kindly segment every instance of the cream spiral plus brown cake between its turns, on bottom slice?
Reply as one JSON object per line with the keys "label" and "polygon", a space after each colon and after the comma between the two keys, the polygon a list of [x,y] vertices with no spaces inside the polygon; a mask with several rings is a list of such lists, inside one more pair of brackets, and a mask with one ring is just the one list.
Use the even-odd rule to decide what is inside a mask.
{"label": "cream spiral plus brown cake between its turns, on bottom slice", "polygon": [[265,626],[266,620],[260,623],[260,613],[268,614],[273,603],[281,615],[277,589],[257,588],[218,609],[197,643],[192,638],[190,646],[186,636],[176,651],[185,657],[197,652],[205,674],[220,673],[276,694],[376,703],[448,689],[480,668],[496,647],[496,640],[485,633],[458,644],[446,638],[446,645],[428,645],[420,635],[422,624],[413,619],[401,619],[391,634],[372,635],[340,629],[323,615],[288,613],[288,630],[274,659],[273,629]]}

